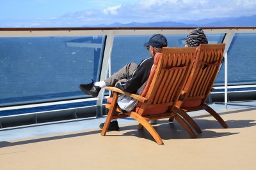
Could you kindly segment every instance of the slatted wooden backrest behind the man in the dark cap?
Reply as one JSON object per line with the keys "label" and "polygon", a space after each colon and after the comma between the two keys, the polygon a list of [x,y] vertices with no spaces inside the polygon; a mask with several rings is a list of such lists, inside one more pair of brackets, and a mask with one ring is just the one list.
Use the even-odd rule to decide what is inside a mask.
{"label": "slatted wooden backrest behind the man in the dark cap", "polygon": [[188,79],[195,51],[195,47],[166,47],[155,57],[156,71],[151,71],[146,85],[149,88],[145,88],[146,92],[142,93],[148,102],[141,104],[137,110],[140,115],[163,113],[176,103]]}

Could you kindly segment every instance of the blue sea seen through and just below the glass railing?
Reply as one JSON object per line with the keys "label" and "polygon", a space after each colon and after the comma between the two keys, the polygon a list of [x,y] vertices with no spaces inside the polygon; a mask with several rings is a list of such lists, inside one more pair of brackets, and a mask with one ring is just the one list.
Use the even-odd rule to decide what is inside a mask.
{"label": "blue sea seen through and just below the glass railing", "polygon": [[[209,43],[221,43],[223,36],[210,34],[207,38]],[[128,62],[139,63],[150,57],[143,46],[149,38],[117,36],[111,55],[111,73]],[[186,35],[167,36],[167,39],[168,46],[184,46]],[[255,34],[234,37],[228,50],[229,85],[255,84],[255,39]],[[99,79],[105,40],[102,36],[0,38],[0,107],[90,97],[78,85]],[[222,66],[215,85],[223,83]],[[88,105],[95,105],[95,101],[0,111],[0,116]]]}

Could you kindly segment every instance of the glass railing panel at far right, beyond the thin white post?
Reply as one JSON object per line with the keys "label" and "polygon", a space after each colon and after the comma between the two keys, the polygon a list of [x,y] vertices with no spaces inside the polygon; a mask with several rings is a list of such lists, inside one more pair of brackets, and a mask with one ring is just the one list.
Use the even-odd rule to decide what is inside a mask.
{"label": "glass railing panel at far right, beyond the thin white post", "polygon": [[256,84],[256,34],[235,34],[228,49],[228,85]]}

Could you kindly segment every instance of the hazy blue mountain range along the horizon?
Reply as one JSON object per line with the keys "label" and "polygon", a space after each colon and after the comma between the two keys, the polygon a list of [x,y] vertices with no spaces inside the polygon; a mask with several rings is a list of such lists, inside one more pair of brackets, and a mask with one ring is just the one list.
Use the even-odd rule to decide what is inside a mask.
{"label": "hazy blue mountain range along the horizon", "polygon": [[166,22],[84,25],[84,27],[256,27],[256,15],[250,17],[205,18],[201,20],[180,20]]}

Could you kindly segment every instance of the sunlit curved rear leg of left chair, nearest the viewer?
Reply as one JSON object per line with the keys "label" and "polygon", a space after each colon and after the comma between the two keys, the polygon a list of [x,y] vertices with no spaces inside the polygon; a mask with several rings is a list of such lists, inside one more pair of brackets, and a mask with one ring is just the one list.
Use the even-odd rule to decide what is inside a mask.
{"label": "sunlit curved rear leg of left chair, nearest the viewer", "polygon": [[141,117],[141,115],[138,115],[137,113],[131,112],[131,117],[137,120],[147,131],[152,135],[152,137],[156,140],[156,142],[159,145],[163,145],[163,140],[160,138],[159,134],[156,132],[154,127],[148,123],[145,118]]}

